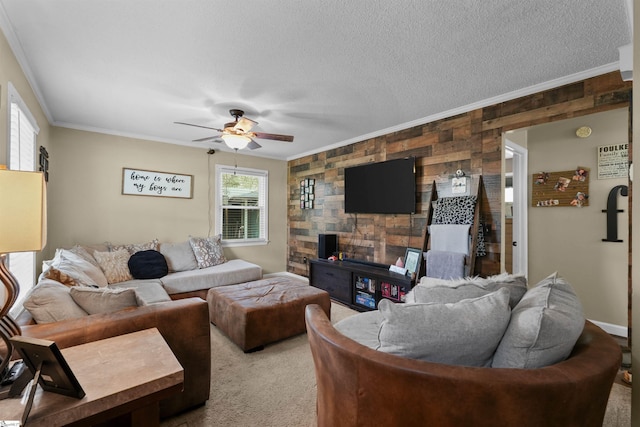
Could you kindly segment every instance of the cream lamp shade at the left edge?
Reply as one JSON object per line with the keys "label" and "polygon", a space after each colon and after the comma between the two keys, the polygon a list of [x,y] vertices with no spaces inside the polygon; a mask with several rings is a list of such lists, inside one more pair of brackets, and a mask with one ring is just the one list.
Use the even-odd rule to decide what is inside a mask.
{"label": "cream lamp shade at the left edge", "polygon": [[0,170],[0,254],[47,244],[47,188],[42,172]]}

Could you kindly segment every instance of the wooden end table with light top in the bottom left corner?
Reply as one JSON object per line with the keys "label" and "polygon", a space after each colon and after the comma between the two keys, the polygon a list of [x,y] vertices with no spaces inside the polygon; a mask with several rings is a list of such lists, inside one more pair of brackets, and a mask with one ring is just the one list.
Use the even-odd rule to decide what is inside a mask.
{"label": "wooden end table with light top in the bottom left corner", "polygon": [[[156,328],[61,351],[86,396],[75,399],[38,387],[29,427],[89,426],[114,419],[158,426],[159,401],[183,388],[182,366]],[[21,419],[22,400],[0,401],[0,419]]]}

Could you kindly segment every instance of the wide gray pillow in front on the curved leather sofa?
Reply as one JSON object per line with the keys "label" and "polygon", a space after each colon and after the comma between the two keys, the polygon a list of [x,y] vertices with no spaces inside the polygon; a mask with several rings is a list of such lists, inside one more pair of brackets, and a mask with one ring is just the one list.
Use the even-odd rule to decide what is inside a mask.
{"label": "wide gray pillow in front on the curved leather sofa", "polygon": [[462,366],[490,366],[509,324],[509,291],[452,304],[378,304],[384,320],[378,350]]}

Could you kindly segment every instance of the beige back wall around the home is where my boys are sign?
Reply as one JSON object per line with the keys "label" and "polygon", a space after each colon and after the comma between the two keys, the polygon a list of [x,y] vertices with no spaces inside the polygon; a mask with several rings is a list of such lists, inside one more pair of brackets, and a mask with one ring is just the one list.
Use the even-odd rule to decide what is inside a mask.
{"label": "beige back wall around the home is where my boys are sign", "polygon": [[[181,242],[213,235],[215,164],[269,172],[269,243],[226,248],[265,273],[286,270],[285,161],[54,127],[48,257],[76,243]],[[193,175],[193,198],[122,195],[122,168]],[[211,196],[211,197],[210,197]],[[211,228],[210,228],[211,227]]]}

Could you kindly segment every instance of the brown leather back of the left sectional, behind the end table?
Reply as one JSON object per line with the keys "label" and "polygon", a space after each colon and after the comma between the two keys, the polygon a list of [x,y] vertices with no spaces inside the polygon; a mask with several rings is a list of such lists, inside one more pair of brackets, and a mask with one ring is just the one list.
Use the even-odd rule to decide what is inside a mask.
{"label": "brown leather back of the left sectional, behind the end table", "polygon": [[28,324],[21,328],[22,335],[55,341],[60,348],[158,328],[184,368],[184,390],[160,402],[160,416],[175,415],[209,399],[209,307],[201,298],[180,299],[54,323]]}

